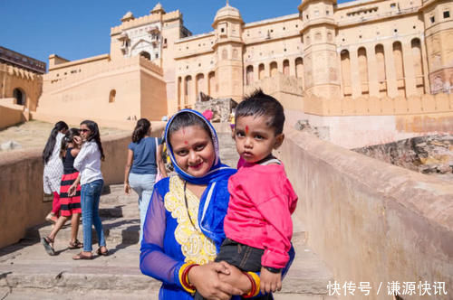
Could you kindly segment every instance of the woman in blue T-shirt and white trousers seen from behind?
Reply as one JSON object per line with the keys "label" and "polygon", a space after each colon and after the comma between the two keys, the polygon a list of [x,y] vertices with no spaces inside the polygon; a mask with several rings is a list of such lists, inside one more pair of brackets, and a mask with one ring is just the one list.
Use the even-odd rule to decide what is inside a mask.
{"label": "woman in blue T-shirt and white trousers seen from behind", "polygon": [[156,175],[167,177],[167,171],[162,161],[161,139],[151,137],[151,123],[146,118],[140,118],[132,133],[132,142],[128,146],[128,158],[124,172],[124,192],[130,194],[130,189],[139,194],[140,211],[140,243],[143,238],[143,223],[149,200],[156,183]]}

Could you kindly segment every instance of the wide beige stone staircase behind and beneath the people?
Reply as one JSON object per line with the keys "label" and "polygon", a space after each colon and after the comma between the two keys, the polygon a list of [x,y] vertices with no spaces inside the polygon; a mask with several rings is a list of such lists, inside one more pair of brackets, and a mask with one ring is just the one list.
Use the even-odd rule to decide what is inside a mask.
{"label": "wide beige stone staircase behind and beneath the people", "polygon": [[[229,138],[229,139],[228,139]],[[236,149],[230,135],[221,135],[224,163],[235,165]],[[72,260],[78,249],[69,249],[71,228],[61,230],[55,240],[56,256],[50,257],[40,238],[52,230],[48,224],[27,231],[24,239],[0,249],[0,300],[14,299],[157,299],[159,282],[142,275],[139,268],[140,218],[135,194],[126,196],[122,185],[111,185],[101,196],[101,219],[108,257]],[[82,239],[82,226],[79,239]],[[284,279],[283,290],[276,300],[335,299],[327,284],[331,272],[305,245],[303,224],[294,220],[293,267]],[[96,234],[93,230],[93,238]],[[95,250],[97,245],[93,245]]]}

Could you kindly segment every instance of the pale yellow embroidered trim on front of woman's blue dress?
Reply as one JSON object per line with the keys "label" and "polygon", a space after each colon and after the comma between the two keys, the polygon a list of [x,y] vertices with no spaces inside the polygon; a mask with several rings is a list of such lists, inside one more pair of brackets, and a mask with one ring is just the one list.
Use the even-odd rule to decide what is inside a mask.
{"label": "pale yellow embroidered trim on front of woman's blue dress", "polygon": [[197,230],[194,229],[188,219],[188,211],[184,202],[184,183],[179,176],[171,176],[169,179],[169,192],[165,195],[164,204],[171,216],[178,221],[175,230],[175,239],[181,245],[182,254],[186,257],[185,262],[206,264],[216,258],[216,245],[211,239],[201,233],[198,226],[199,199],[190,190],[186,190],[188,198],[188,211],[195,221]]}

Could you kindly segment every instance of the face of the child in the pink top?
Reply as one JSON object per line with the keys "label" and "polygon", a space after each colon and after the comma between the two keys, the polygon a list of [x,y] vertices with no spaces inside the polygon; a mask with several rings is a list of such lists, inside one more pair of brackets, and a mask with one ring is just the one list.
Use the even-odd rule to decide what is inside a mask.
{"label": "face of the child in the pink top", "polygon": [[268,155],[272,150],[282,145],[284,135],[275,136],[274,128],[268,127],[266,116],[238,117],[235,127],[235,141],[237,153],[247,163],[256,163]]}

